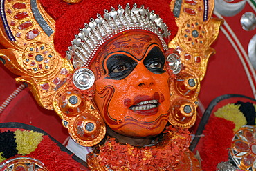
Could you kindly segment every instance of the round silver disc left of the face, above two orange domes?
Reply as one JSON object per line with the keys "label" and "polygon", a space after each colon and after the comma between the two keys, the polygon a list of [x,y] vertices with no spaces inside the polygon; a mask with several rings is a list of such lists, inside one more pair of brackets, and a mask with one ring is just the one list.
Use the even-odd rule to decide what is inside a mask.
{"label": "round silver disc left of the face, above two orange domes", "polygon": [[95,76],[93,72],[88,68],[80,68],[73,74],[73,83],[77,88],[81,90],[87,90],[91,88],[94,81]]}

